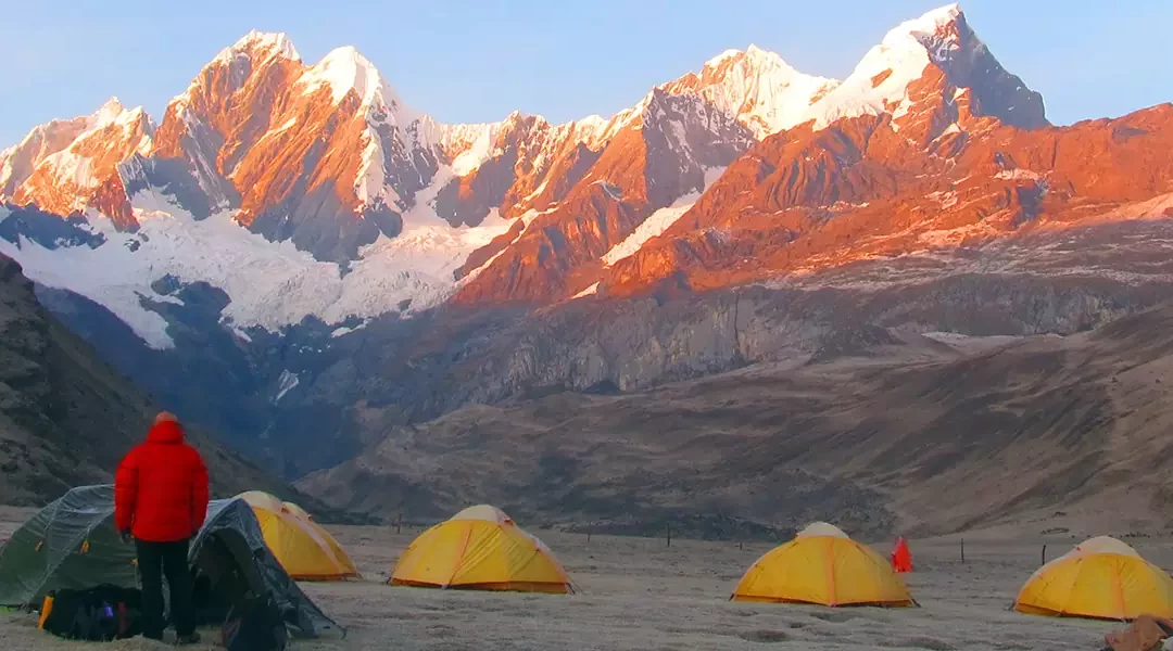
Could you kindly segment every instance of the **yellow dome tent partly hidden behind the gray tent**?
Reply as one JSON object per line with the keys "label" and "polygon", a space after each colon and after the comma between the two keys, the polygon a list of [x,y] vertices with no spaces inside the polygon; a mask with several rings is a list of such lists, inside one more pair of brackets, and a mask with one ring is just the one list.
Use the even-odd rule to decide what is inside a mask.
{"label": "yellow dome tent partly hidden behind the gray tent", "polygon": [[300,507],[262,491],[249,491],[239,496],[252,507],[265,546],[290,576],[299,581],[340,581],[359,576],[354,562],[334,536]]}

